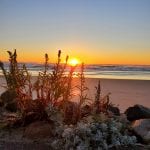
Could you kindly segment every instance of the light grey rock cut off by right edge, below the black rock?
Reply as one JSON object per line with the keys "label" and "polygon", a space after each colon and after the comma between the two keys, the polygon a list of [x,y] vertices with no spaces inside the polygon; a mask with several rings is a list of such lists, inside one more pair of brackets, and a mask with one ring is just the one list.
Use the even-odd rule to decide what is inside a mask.
{"label": "light grey rock cut off by right edge, below the black rock", "polygon": [[132,124],[135,134],[140,136],[143,142],[150,144],[150,119],[136,120]]}

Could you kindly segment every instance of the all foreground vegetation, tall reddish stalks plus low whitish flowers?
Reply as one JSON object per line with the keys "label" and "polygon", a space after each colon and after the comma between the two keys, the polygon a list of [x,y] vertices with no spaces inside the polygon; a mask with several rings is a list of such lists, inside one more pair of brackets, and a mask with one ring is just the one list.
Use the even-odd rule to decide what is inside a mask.
{"label": "all foreground vegetation, tall reddish stalks plus low whitish flowers", "polygon": [[[9,70],[0,62],[7,83],[7,91],[1,95],[1,99],[15,100],[17,106],[13,119],[9,115],[9,126],[28,127],[31,123],[36,124],[36,121],[37,124],[44,121],[50,131],[53,129],[52,149],[108,149],[136,143],[136,137],[128,134],[127,126],[110,117],[109,110],[113,106],[110,93],[102,96],[100,81],[95,100],[88,98],[84,63],[79,66],[79,82],[75,86],[73,80],[77,65],[68,65],[69,56],[62,63],[61,50],[52,71],[49,70],[49,56],[45,54],[43,71],[39,71],[34,79],[26,65],[17,62],[16,50],[13,53],[8,51],[8,54]],[[72,101],[74,90],[78,90],[76,102]],[[12,103],[9,104],[14,107]],[[5,125],[8,126],[0,125],[0,130]]]}

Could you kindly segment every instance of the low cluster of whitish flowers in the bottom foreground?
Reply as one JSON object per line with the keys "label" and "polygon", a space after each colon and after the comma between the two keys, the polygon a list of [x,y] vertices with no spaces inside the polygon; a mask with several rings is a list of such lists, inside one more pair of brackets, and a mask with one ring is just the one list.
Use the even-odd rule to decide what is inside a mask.
{"label": "low cluster of whitish flowers in the bottom foreground", "polygon": [[52,147],[56,150],[107,150],[112,146],[134,145],[136,137],[122,132],[122,126],[113,119],[107,123],[80,122],[76,126],[65,126]]}

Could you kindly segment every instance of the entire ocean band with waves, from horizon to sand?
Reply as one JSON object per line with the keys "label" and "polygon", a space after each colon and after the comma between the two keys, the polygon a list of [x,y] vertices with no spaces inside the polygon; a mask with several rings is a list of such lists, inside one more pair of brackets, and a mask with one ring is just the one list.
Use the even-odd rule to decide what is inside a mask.
{"label": "entire ocean band with waves, from horizon to sand", "polygon": [[[8,63],[4,63],[4,66],[7,69],[9,67]],[[53,66],[54,64],[49,64],[49,72],[52,72]],[[43,64],[26,63],[26,67],[33,76],[44,70]],[[79,70],[80,68],[77,67],[75,74]],[[85,65],[84,74],[88,78],[150,80],[150,65]]]}

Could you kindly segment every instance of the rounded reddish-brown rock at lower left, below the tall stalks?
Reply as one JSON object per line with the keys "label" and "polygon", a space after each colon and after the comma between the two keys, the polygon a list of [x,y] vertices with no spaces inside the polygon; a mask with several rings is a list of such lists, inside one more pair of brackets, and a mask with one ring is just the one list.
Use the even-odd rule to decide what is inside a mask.
{"label": "rounded reddish-brown rock at lower left, below the tall stalks", "polygon": [[53,125],[45,121],[37,121],[27,126],[23,137],[28,139],[45,139],[52,137],[53,133]]}

